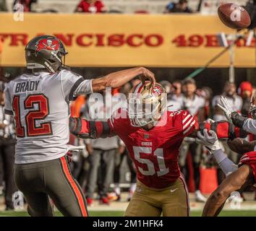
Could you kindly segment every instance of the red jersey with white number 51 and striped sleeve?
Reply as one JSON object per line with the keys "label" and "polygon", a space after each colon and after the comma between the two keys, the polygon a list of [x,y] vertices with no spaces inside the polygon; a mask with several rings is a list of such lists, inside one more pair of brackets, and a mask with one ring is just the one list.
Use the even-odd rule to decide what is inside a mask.
{"label": "red jersey with white number 51 and striped sleeve", "polygon": [[195,119],[187,110],[168,111],[150,131],[132,126],[129,118],[115,118],[109,126],[127,146],[137,169],[137,178],[150,188],[166,188],[180,176],[179,147],[195,130]]}

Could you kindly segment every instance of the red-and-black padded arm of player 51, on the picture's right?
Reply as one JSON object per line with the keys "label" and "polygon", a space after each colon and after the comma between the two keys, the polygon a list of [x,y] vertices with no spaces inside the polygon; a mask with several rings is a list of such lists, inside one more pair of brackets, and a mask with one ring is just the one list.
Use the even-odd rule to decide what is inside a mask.
{"label": "red-and-black padded arm of player 51, on the picture's right", "polygon": [[204,122],[199,124],[199,128],[201,134],[203,134],[205,128],[208,129],[208,131],[215,131],[220,140],[232,140],[235,138],[245,138],[247,136],[246,131],[242,128],[235,127],[227,121],[218,121],[214,123]]}

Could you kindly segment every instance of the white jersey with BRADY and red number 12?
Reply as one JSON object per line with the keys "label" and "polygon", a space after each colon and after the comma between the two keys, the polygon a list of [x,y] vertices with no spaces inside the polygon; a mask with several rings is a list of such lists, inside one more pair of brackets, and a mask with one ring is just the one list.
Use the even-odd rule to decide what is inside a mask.
{"label": "white jersey with BRADY and red number 12", "polygon": [[54,74],[22,74],[5,89],[5,113],[14,115],[17,144],[15,163],[54,160],[67,153],[69,141],[69,100],[77,87],[91,81],[71,71]]}

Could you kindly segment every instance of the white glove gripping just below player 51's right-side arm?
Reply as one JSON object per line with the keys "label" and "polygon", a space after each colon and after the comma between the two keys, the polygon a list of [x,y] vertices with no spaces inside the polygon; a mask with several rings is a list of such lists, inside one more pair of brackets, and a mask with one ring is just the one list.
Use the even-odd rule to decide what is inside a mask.
{"label": "white glove gripping just below player 51's right-side arm", "polygon": [[204,145],[210,152],[215,152],[216,150],[221,149],[221,145],[218,141],[218,136],[215,131],[207,129],[203,130],[203,135],[200,131],[197,131],[197,144]]}

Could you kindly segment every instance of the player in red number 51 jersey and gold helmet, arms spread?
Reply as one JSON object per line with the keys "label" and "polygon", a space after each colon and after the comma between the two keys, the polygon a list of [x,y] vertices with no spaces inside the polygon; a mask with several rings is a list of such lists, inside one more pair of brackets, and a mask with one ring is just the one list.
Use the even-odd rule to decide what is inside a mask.
{"label": "player in red number 51 jersey and gold helmet, arms spread", "polygon": [[[169,111],[161,84],[137,84],[128,110],[108,122],[70,118],[70,131],[82,138],[118,135],[137,169],[137,189],[126,216],[189,216],[189,196],[179,170],[179,147],[197,128],[213,129],[218,138],[234,136],[228,122],[199,125],[187,110]],[[233,129],[233,131],[231,131]],[[221,132],[220,132],[221,131]]]}

